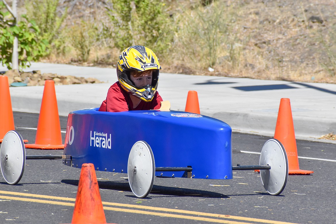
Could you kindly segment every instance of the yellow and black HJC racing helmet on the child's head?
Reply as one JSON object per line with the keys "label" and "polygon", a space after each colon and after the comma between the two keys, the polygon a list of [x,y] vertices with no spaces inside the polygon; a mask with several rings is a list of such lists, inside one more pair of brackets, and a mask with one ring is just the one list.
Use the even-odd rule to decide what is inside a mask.
{"label": "yellow and black HJC racing helmet on the child's head", "polygon": [[[121,87],[146,102],[153,99],[158,88],[159,59],[155,53],[144,46],[131,46],[121,52],[117,62],[117,76]],[[142,72],[153,70],[152,85],[137,88],[130,79],[130,71]]]}

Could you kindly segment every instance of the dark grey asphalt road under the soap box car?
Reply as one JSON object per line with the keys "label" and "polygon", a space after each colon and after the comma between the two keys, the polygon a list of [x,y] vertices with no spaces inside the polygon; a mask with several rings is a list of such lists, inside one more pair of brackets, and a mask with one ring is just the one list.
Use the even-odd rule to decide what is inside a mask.
{"label": "dark grey asphalt road under the soap box car", "polygon": [[[60,117],[63,141],[66,121]],[[15,112],[14,122],[34,143],[38,114]],[[260,152],[267,139],[234,133],[233,165],[258,165],[259,154],[241,150]],[[232,180],[155,178],[148,197],[138,199],[127,174],[96,171],[107,223],[336,223],[335,144],[297,141],[297,150],[300,169],[314,173],[290,175],[279,196],[267,194],[259,174],[234,171]],[[61,155],[62,150],[26,153]],[[17,185],[0,176],[0,223],[71,223],[79,176],[80,169],[55,160],[27,160]]]}

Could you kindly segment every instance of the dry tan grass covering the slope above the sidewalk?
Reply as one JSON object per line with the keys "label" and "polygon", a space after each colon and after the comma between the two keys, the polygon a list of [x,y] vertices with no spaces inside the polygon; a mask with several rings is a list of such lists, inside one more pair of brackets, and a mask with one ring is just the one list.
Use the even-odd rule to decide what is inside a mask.
{"label": "dry tan grass covering the slope above the sidewalk", "polygon": [[[165,2],[179,30],[168,54],[157,52],[163,72],[336,83],[336,62],[333,64],[328,56],[328,51],[336,56],[336,0],[213,0],[202,7],[198,7],[198,0]],[[104,16],[108,1],[60,3],[59,10],[71,9],[65,26],[74,25],[79,19],[96,24],[108,21]],[[211,47],[202,42],[209,32],[191,32],[195,31],[193,25],[201,23],[197,13],[216,14],[219,8],[224,10],[220,23],[210,24],[208,20],[203,28],[226,27],[225,32],[217,31],[215,35],[218,44],[212,49],[214,63],[210,63]],[[106,39],[95,43],[87,64],[113,66],[118,54],[112,40]],[[70,50],[44,60],[79,63],[74,55]],[[208,71],[210,64],[213,72]]]}

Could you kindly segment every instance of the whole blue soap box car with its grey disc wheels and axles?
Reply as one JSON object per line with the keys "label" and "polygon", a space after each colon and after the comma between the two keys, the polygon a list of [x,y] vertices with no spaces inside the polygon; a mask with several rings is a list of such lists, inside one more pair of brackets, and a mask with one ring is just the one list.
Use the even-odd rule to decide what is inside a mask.
{"label": "whole blue soap box car with its grey disc wheels and axles", "polygon": [[[260,170],[269,194],[278,195],[288,177],[286,151],[280,141],[269,139],[256,166],[232,165],[232,129],[220,120],[183,111],[140,110],[101,112],[98,108],[72,111],[68,116],[64,153],[60,156],[25,155],[21,136],[8,132],[16,144],[1,145],[1,171],[9,184],[23,175],[26,159],[58,159],[81,168],[92,163],[98,171],[127,173],[132,192],[146,197],[155,176],[232,179],[233,170]],[[16,148],[15,153],[9,147]],[[11,156],[22,158],[10,164]],[[9,174],[8,167],[15,170]],[[15,168],[14,168],[15,167]],[[21,168],[23,167],[23,168]]]}

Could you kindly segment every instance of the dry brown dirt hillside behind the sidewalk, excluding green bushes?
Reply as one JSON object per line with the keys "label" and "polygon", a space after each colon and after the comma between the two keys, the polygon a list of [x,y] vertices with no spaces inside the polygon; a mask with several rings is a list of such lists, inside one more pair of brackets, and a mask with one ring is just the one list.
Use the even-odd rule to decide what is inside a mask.
{"label": "dry brown dirt hillside behind the sidewalk, excluding green bushes", "polygon": [[[10,1],[8,1],[10,2]],[[22,7],[24,1],[19,5]],[[165,72],[250,77],[304,82],[336,83],[336,0],[165,0],[170,16],[183,16],[195,10],[199,2],[203,7],[222,6],[235,10],[235,21],[230,21],[236,36],[233,46],[240,46],[236,67],[220,55],[213,68],[191,62],[181,63],[183,57],[166,60],[160,56]],[[78,20],[104,21],[108,24],[108,0],[59,0],[58,12],[68,9],[65,27]],[[231,33],[231,34],[232,34]],[[71,34],[70,34],[71,35]],[[178,34],[176,34],[178,38]],[[174,40],[171,55],[187,54]],[[119,50],[94,46],[88,65],[113,66]],[[177,44],[176,44],[177,43]],[[193,40],[190,40],[193,48]],[[112,44],[111,44],[112,45]],[[225,44],[221,46],[226,47]],[[190,55],[188,55],[190,57]],[[97,60],[97,58],[103,58]],[[184,57],[186,58],[186,57]],[[48,57],[44,61],[73,63],[74,54]],[[224,62],[223,62],[224,61]],[[167,63],[168,62],[168,63]],[[182,61],[183,62],[183,61]],[[77,62],[78,63],[78,62]],[[187,65],[186,65],[187,64]],[[210,70],[210,71],[209,71]]]}

